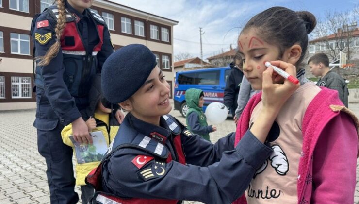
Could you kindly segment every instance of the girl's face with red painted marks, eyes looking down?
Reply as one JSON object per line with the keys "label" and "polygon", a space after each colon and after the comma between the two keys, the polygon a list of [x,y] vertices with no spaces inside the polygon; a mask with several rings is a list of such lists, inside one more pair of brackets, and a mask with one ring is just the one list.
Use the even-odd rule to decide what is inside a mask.
{"label": "girl's face with red painted marks, eyes looking down", "polygon": [[[242,33],[238,39],[238,48],[243,57],[243,71],[254,90],[262,89],[262,73],[267,69],[264,62],[279,58],[279,48],[266,43],[254,29]],[[285,59],[282,59],[285,61]],[[283,83],[284,79],[273,72],[273,83]],[[276,79],[276,81],[274,80]]]}

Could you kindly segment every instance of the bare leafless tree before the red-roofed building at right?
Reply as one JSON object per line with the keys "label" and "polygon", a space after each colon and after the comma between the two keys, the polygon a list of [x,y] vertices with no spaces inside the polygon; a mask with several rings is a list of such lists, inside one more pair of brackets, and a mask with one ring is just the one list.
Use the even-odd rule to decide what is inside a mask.
{"label": "bare leafless tree before the red-roofed building at right", "polygon": [[[358,10],[358,7],[356,8]],[[325,17],[318,20],[316,29],[313,32],[314,37],[322,45],[325,45],[329,51],[328,54],[332,58],[336,57],[340,51],[347,49],[347,56],[350,59],[350,38],[353,31],[357,28],[354,10],[342,13],[328,10]]]}

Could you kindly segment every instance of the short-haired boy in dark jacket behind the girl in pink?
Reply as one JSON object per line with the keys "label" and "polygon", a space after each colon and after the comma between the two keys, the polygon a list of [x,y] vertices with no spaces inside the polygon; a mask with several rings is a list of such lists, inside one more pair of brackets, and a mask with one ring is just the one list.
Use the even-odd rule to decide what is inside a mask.
{"label": "short-haired boy in dark jacket behind the girl in pink", "polygon": [[321,77],[317,82],[318,86],[324,86],[338,91],[339,98],[348,107],[349,91],[345,83],[345,79],[339,74],[330,71],[329,59],[325,53],[314,54],[308,60],[310,73],[315,77]]}

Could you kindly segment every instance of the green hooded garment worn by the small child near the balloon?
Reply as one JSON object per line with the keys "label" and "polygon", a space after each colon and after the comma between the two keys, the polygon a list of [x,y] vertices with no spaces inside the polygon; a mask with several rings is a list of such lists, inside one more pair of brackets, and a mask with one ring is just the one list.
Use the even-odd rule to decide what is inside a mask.
{"label": "green hooded garment worn by the small child near the balloon", "polygon": [[186,98],[186,103],[189,107],[189,110],[187,111],[186,114],[186,123],[188,125],[188,129],[193,132],[196,133],[196,131],[193,130],[193,127],[191,127],[191,124],[188,120],[188,116],[192,113],[195,112],[198,115],[198,122],[201,126],[206,127],[206,131],[207,133],[196,133],[200,136],[202,136],[204,139],[210,141],[210,134],[209,132],[212,131],[212,127],[208,128],[208,124],[207,124],[207,119],[206,116],[204,115],[202,108],[200,108],[198,106],[198,102],[199,102],[199,96],[201,95],[203,91],[197,88],[190,88],[186,90],[185,93],[185,98]]}

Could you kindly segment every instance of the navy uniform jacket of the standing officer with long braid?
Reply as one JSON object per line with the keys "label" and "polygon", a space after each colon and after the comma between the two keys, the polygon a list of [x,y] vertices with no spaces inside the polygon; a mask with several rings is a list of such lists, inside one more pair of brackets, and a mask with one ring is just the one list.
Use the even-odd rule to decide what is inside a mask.
{"label": "navy uniform jacket of the standing officer with long braid", "polygon": [[[78,33],[82,37],[82,44],[87,52],[91,52],[99,41],[94,17],[91,16],[89,9],[85,9],[84,13],[80,14],[72,8],[67,1],[65,1],[65,3],[66,9],[78,17],[76,24]],[[34,54],[35,56],[44,56],[51,45],[55,43],[55,26],[57,23],[56,19],[51,16],[49,10],[45,10],[35,20],[35,26],[31,31],[35,46]],[[39,28],[36,26],[39,22],[46,20],[48,20],[48,26]],[[48,41],[45,41],[45,43],[39,43],[35,40],[35,34],[45,35],[48,33],[51,33],[51,38]],[[98,70],[101,70],[104,61],[113,52],[114,48],[110,40],[110,33],[107,26],[104,24],[103,44],[101,50],[98,51],[97,54]],[[38,104],[34,126],[44,130],[49,129],[49,127],[46,127],[47,124],[45,123],[51,123],[51,121],[57,123],[58,119],[60,119],[62,125],[68,125],[75,119],[80,118],[81,114],[79,109],[85,108],[88,103],[85,97],[74,98],[69,93],[68,87],[64,82],[64,57],[61,53],[62,49],[60,48],[58,54],[50,61],[49,65],[42,66],[40,67],[40,70],[37,71],[42,77],[43,87],[40,88],[37,85],[36,101]],[[51,124],[48,125],[52,126]]]}

